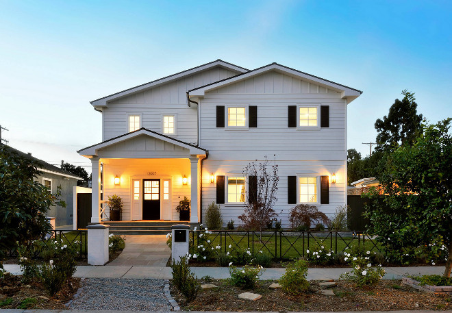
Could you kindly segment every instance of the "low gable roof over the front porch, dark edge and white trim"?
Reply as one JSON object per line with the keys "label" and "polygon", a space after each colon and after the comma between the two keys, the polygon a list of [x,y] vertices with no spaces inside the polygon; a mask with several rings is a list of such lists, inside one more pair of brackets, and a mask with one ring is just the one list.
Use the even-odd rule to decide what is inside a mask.
{"label": "low gable roof over the front porch, dark edge and white trim", "polygon": [[177,145],[179,147],[186,148],[186,149],[190,150],[190,154],[201,154],[201,155],[203,155],[203,154],[208,153],[207,149],[203,149],[203,148],[197,147],[195,145],[190,145],[189,143],[184,142],[182,140],[178,140],[178,139],[166,136],[166,135],[159,134],[157,132],[153,132],[152,130],[147,129],[145,127],[141,127],[140,129],[137,129],[134,132],[129,132],[129,133],[123,134],[121,136],[116,136],[114,138],[105,140],[103,142],[99,142],[99,143],[97,143],[95,145],[91,145],[91,146],[86,147],[84,149],[80,149],[80,150],[77,151],[77,153],[79,153],[81,155],[97,155],[97,150],[98,149],[102,149],[102,148],[105,148],[105,147],[108,147],[108,146],[111,146],[111,145],[116,145],[116,143],[118,143],[118,142],[129,140],[131,138],[135,138],[135,137],[141,136],[141,135],[151,136],[153,138],[157,138],[157,139],[160,139],[160,140],[163,140],[163,141],[166,141],[166,142],[170,142],[173,145]]}

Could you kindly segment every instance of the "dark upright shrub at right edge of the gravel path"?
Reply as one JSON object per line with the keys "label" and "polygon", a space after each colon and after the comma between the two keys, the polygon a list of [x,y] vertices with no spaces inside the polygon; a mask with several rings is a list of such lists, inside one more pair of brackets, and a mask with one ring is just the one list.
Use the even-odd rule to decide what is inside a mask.
{"label": "dark upright shrub at right edge of the gravel path", "polygon": [[179,261],[171,262],[171,268],[173,269],[173,284],[186,298],[187,302],[193,301],[199,292],[199,284],[194,278],[194,274],[190,271],[188,266],[188,258],[182,257]]}

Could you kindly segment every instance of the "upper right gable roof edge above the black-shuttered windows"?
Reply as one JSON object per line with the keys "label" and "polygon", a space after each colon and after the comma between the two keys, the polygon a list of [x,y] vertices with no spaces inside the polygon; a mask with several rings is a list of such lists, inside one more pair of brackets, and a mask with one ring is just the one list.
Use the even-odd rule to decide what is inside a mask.
{"label": "upper right gable roof edge above the black-shuttered windows", "polygon": [[205,92],[209,92],[210,90],[214,90],[216,88],[221,88],[228,84],[233,84],[242,79],[254,77],[256,75],[260,75],[260,74],[266,73],[268,71],[277,71],[279,73],[284,73],[285,75],[290,75],[292,77],[297,77],[299,79],[309,80],[309,81],[315,82],[316,84],[319,84],[321,86],[325,86],[332,90],[341,92],[341,97],[344,99],[347,99],[348,100],[347,103],[350,103],[351,101],[353,101],[354,99],[356,99],[357,97],[359,97],[362,94],[361,90],[357,90],[357,89],[351,88],[349,86],[338,84],[336,82],[331,82],[328,79],[324,79],[324,78],[321,78],[321,77],[318,77],[318,76],[315,76],[312,74],[298,71],[294,68],[290,68],[288,66],[284,66],[284,65],[278,64],[276,62],[273,62],[266,66],[262,66],[260,68],[255,68],[254,70],[248,71],[246,73],[242,73],[242,74],[238,74],[233,77],[222,79],[222,80],[220,80],[218,82],[214,82],[212,84],[207,84],[205,86],[201,86],[198,88],[194,88],[192,90],[188,90],[187,94],[188,94],[188,97],[203,97],[205,95]]}

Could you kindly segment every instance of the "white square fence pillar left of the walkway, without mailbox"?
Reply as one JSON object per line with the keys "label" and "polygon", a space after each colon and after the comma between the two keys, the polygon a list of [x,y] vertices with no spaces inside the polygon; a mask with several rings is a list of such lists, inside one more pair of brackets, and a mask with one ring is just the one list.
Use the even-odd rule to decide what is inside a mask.
{"label": "white square fence pillar left of the walkway, without mailbox", "polygon": [[108,233],[110,225],[88,225],[88,264],[103,265],[108,262]]}

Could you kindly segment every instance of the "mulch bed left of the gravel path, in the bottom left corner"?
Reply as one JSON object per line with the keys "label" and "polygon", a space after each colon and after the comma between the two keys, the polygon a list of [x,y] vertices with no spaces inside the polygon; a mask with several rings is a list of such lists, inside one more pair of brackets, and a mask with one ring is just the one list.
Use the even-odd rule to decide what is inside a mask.
{"label": "mulch bed left of the gravel path, in the bottom left corner", "polygon": [[67,309],[64,304],[80,287],[80,279],[71,277],[55,297],[50,297],[40,281],[23,283],[21,278],[7,273],[0,279],[0,309]]}

